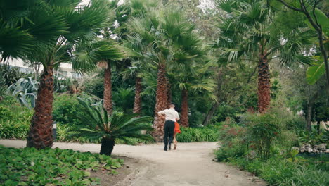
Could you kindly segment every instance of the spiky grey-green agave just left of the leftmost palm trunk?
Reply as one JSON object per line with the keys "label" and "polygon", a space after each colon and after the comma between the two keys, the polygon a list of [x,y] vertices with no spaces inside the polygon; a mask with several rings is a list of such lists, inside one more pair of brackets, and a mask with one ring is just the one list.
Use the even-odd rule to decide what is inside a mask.
{"label": "spiky grey-green agave just left of the leftmost palm trunk", "polygon": [[[39,82],[32,80],[31,77],[20,78],[15,84],[8,87],[7,92],[20,101],[20,104],[28,108],[34,108],[35,99],[37,99]],[[29,100],[30,99],[30,104]]]}

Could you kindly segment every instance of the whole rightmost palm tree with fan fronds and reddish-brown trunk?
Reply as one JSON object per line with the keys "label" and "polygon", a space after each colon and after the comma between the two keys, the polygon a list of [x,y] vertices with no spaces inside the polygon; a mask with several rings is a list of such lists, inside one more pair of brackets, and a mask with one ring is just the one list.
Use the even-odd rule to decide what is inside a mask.
{"label": "whole rightmost palm tree with fan fronds and reddish-brown trunk", "polygon": [[[280,58],[283,64],[305,63],[303,44],[309,44],[309,30],[294,28],[280,32],[272,18],[276,15],[264,1],[219,0],[219,8],[226,11],[219,28],[221,36],[217,46],[221,58],[228,62],[256,61],[258,63],[258,109],[264,113],[270,106],[269,61]],[[278,56],[274,56],[278,54]]]}

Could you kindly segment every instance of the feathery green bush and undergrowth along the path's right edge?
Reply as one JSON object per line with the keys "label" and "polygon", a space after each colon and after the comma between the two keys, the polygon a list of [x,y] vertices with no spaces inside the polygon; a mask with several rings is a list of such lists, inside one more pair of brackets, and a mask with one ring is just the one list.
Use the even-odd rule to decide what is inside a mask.
{"label": "feathery green bush and undergrowth along the path's right edge", "polygon": [[[215,155],[219,161],[228,161],[259,175],[269,185],[328,185],[325,168],[329,156],[305,159],[291,150],[292,144],[298,143],[295,130],[291,130],[299,125],[295,120],[298,118],[289,111],[243,114],[240,123],[228,121],[223,125],[221,147]],[[307,136],[317,138],[304,135]]]}

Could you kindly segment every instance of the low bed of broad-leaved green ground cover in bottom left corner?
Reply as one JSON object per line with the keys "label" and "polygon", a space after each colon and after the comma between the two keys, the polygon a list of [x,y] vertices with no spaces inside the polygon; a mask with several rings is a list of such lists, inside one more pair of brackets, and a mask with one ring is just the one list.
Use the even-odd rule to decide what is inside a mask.
{"label": "low bed of broad-leaved green ground cover in bottom left corner", "polygon": [[90,171],[120,168],[123,160],[62,149],[0,146],[0,185],[99,185]]}

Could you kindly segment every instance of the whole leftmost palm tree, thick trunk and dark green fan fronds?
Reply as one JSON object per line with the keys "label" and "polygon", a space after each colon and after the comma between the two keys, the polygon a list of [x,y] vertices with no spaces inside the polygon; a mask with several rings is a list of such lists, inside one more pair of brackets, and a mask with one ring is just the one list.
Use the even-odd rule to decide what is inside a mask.
{"label": "whole leftmost palm tree, thick trunk and dark green fan fronds", "polygon": [[[15,53],[13,52],[15,49],[5,47],[1,49],[1,53],[5,56],[11,55],[27,58],[29,61],[38,61],[44,67],[27,137],[27,147],[41,149],[51,147],[53,144],[51,116],[53,68],[62,62],[70,61],[71,51],[75,49],[75,45],[94,39],[96,32],[108,22],[109,9],[104,6],[105,2],[103,0],[91,1],[91,4],[79,6],[80,0],[37,0],[27,6],[27,11],[22,14],[23,16],[18,15],[20,18],[15,16],[8,17],[8,20],[1,18],[3,22],[1,25],[6,27],[4,32],[1,30],[1,34],[9,35],[8,38],[16,37],[17,35],[10,36],[12,33],[8,33],[9,27],[32,37],[32,43],[25,45],[26,43],[23,42],[22,46],[25,48],[18,49],[18,52]],[[5,12],[10,12],[15,8],[19,9],[21,4],[19,2],[14,5],[13,2],[6,1],[4,5]],[[13,21],[11,18],[16,19]]]}

